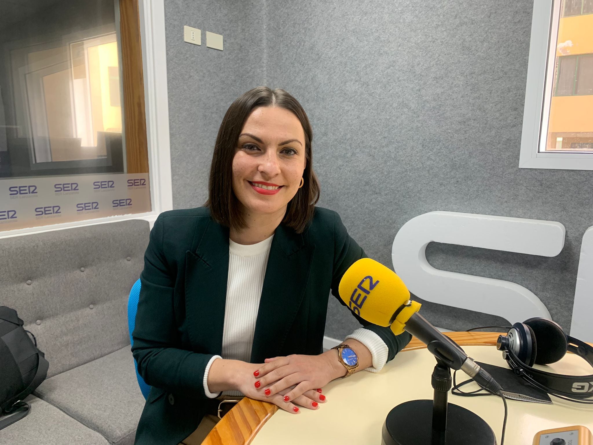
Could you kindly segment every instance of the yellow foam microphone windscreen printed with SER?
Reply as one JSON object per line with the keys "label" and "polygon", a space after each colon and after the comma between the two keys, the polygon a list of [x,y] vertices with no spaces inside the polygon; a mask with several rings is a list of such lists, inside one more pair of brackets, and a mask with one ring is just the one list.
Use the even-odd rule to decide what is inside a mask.
{"label": "yellow foam microphone windscreen printed with SER", "polygon": [[359,259],[348,268],[338,291],[350,310],[379,326],[390,326],[395,311],[410,299],[401,278],[370,258]]}

